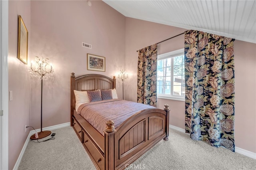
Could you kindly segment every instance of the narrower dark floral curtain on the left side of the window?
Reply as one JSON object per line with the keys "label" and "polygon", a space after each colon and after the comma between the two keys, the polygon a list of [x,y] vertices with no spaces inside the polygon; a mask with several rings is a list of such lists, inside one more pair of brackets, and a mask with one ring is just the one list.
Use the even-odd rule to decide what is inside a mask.
{"label": "narrower dark floral curtain on the left side of the window", "polygon": [[137,101],[156,107],[157,44],[138,52]]}

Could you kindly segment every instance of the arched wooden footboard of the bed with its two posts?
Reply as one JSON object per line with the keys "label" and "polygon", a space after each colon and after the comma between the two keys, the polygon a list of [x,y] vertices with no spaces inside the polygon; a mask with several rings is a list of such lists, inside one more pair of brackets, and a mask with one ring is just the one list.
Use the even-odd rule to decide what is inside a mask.
{"label": "arched wooden footboard of the bed with its two posts", "polygon": [[[112,123],[114,131],[104,132],[105,138],[108,139],[105,142],[109,142],[109,144],[105,143],[105,146],[112,151],[111,153],[105,151],[105,156],[108,157],[108,162],[105,162],[106,169],[111,170],[113,167],[115,167],[114,169],[124,169],[160,140],[168,140],[169,121],[166,121],[169,120],[168,107],[165,105],[164,110],[146,109],[141,111],[116,129],[113,128],[114,123]],[[106,128],[110,129],[108,126]],[[107,155],[108,153],[110,155]],[[109,159],[110,157],[112,159]]]}

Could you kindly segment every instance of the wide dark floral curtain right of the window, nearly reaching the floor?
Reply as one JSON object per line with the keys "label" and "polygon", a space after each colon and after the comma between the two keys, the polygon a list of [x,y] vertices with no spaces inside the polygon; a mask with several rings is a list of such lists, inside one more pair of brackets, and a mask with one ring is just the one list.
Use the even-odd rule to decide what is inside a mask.
{"label": "wide dark floral curtain right of the window, nearly reaching the floor", "polygon": [[233,43],[206,32],[185,32],[186,133],[234,152]]}

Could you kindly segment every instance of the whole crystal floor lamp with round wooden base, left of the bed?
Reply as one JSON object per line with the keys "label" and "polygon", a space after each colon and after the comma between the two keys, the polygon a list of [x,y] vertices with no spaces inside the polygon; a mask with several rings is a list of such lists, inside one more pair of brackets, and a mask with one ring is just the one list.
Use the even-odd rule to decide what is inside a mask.
{"label": "whole crystal floor lamp with round wooden base, left of the bed", "polygon": [[46,136],[49,136],[52,132],[49,130],[42,131],[42,95],[43,95],[43,79],[46,77],[50,77],[51,73],[53,73],[52,65],[48,58],[44,59],[43,57],[37,57],[31,61],[30,69],[34,76],[41,79],[41,131],[38,134],[33,134],[30,139],[36,140],[41,139]]}

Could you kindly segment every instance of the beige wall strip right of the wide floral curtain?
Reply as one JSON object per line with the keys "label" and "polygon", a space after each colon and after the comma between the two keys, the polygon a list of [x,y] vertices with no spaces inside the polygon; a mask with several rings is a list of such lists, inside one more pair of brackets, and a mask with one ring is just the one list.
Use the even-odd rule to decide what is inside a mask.
{"label": "beige wall strip right of the wide floral curtain", "polygon": [[236,40],[235,144],[256,153],[256,44]]}

